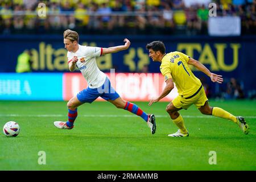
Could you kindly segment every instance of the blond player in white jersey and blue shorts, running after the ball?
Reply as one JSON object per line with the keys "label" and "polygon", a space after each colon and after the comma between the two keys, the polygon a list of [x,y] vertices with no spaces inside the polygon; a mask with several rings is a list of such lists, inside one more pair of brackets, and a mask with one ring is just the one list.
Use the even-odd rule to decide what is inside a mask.
{"label": "blond player in white jersey and blue shorts, running after the ball", "polygon": [[124,39],[124,45],[115,47],[89,47],[79,44],[79,34],[76,31],[64,31],[64,45],[67,49],[69,71],[79,69],[88,83],[88,87],[77,93],[76,96],[68,101],[68,121],[55,121],[54,125],[59,129],[73,129],[77,118],[77,107],[85,103],[92,103],[98,97],[112,103],[119,109],[130,111],[141,117],[150,127],[151,134],[155,134],[156,123],[155,115],[147,114],[136,104],[122,100],[114,88],[111,86],[109,78],[100,71],[96,64],[96,58],[108,53],[115,53],[126,50],[130,47],[130,41]]}

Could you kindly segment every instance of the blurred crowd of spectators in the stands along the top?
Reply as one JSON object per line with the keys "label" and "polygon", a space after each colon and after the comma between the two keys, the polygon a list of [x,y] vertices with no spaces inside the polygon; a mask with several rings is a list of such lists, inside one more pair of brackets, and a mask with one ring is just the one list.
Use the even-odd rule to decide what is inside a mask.
{"label": "blurred crowd of spectators in the stands along the top", "polygon": [[[38,16],[39,3],[46,16]],[[208,5],[217,16],[240,16],[255,34],[256,0],[0,0],[0,34],[208,34]]]}

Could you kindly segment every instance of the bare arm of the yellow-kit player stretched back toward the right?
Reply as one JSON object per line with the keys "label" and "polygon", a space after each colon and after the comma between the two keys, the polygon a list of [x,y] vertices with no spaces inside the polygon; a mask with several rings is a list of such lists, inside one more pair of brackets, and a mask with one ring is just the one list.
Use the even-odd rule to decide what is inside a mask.
{"label": "bare arm of the yellow-kit player stretched back toward the right", "polygon": [[219,84],[223,82],[223,78],[221,75],[216,75],[215,73],[210,72],[209,69],[205,67],[203,64],[201,64],[199,61],[189,58],[188,64],[193,65],[199,71],[205,73],[205,75],[209,76],[210,80],[212,80],[213,82],[217,82]]}

